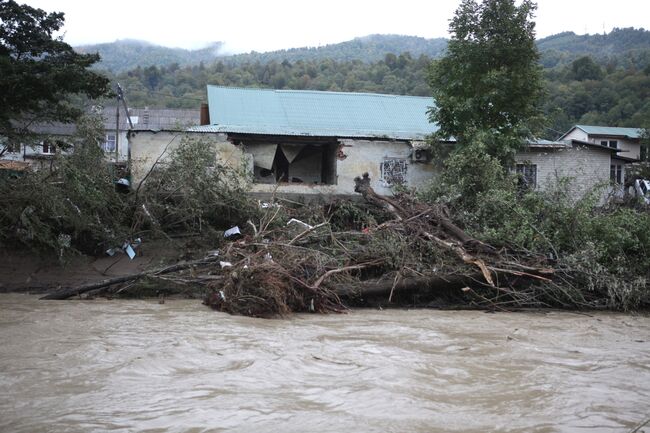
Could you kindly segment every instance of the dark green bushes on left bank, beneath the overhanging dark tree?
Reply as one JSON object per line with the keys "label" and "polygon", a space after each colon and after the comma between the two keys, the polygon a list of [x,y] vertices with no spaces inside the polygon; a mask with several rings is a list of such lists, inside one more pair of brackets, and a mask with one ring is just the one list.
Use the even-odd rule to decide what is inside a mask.
{"label": "dark green bushes on left bank, beneath the overhanging dark tree", "polygon": [[0,244],[64,257],[123,241],[127,208],[97,145],[101,125],[100,118],[80,119],[71,153],[57,155],[52,170],[0,180]]}

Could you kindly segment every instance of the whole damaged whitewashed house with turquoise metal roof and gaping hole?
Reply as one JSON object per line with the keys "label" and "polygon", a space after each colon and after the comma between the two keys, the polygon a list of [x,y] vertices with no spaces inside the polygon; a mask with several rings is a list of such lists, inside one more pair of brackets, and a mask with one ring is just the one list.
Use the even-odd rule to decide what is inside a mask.
{"label": "whole damaged whitewashed house with turquoise metal roof and gaping hole", "polygon": [[254,193],[351,195],[354,178],[368,172],[373,188],[390,194],[435,173],[422,148],[437,129],[427,117],[431,98],[208,86],[208,102],[202,126],[133,134],[134,182],[186,136],[211,140],[221,161],[248,167]]}

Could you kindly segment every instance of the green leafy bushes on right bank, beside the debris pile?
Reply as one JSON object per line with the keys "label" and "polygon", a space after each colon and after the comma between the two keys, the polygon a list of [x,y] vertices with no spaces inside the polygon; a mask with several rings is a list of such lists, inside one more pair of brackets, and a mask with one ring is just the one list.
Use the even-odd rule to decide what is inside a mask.
{"label": "green leafy bushes on right bank, beside the debris pile", "polygon": [[650,302],[647,210],[598,206],[602,191],[576,200],[570,179],[544,191],[522,191],[516,177],[499,177],[496,161],[478,154],[455,153],[442,181],[421,198],[445,204],[460,226],[484,242],[553,257],[566,278],[567,305],[577,297],[585,305],[625,310]]}

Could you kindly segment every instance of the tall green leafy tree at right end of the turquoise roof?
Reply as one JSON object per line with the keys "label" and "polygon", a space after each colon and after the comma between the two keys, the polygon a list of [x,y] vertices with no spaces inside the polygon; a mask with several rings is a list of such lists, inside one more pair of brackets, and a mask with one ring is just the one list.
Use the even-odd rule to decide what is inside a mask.
{"label": "tall green leafy tree at right end of the turquoise roof", "polygon": [[511,158],[534,120],[543,95],[535,46],[535,3],[463,0],[451,20],[447,53],[432,63],[430,119],[439,136],[469,144],[476,131],[491,131],[487,152]]}

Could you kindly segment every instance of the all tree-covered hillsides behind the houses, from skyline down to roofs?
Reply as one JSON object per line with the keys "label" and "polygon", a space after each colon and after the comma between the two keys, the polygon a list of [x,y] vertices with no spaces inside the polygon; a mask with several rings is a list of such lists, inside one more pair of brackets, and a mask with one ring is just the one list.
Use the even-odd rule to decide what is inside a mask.
{"label": "all tree-covered hillsides behind the houses, from skyline down to roofs", "polygon": [[[409,50],[367,61],[378,56],[379,47],[399,50],[399,38],[406,38]],[[138,66],[107,74],[122,85],[134,107],[195,108],[206,102],[207,84],[428,96],[427,70],[444,48],[438,45],[435,55],[426,54],[415,49],[422,41],[432,40],[370,36],[318,49],[242,54],[186,66]],[[370,43],[374,48],[361,55],[363,44]],[[546,138],[556,138],[576,123],[650,126],[649,31],[561,33],[538,41],[538,47],[548,89]]]}

